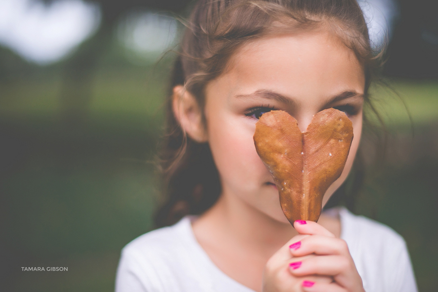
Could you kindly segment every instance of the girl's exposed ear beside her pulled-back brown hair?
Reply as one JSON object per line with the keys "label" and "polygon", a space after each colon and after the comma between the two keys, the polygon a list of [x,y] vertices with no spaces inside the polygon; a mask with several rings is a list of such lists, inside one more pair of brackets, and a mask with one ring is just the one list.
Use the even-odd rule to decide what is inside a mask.
{"label": "girl's exposed ear beside her pulled-back brown hair", "polygon": [[183,131],[197,142],[207,141],[201,108],[195,97],[182,85],[173,87],[172,109]]}

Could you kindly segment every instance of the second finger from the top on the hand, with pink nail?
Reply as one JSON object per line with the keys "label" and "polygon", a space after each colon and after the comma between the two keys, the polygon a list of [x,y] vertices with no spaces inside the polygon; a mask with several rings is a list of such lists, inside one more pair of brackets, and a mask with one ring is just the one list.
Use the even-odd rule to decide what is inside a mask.
{"label": "second finger from the top on the hand, with pink nail", "polygon": [[293,257],[302,257],[309,254],[317,255],[349,255],[347,242],[345,240],[312,235],[302,238],[289,245]]}

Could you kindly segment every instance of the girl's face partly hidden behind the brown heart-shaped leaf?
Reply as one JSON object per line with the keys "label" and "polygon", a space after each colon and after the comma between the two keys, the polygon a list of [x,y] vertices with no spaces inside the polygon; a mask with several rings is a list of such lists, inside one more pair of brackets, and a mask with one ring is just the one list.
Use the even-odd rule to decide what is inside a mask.
{"label": "girl's face partly hidden behind the brown heart-shaped leaf", "polygon": [[364,86],[353,52],[329,32],[264,37],[241,47],[205,91],[206,136],[224,199],[288,223],[274,180],[256,153],[256,122],[263,112],[284,110],[304,132],[313,115],[333,107],[352,121],[354,138],[325,204],[346,179],[359,146]]}

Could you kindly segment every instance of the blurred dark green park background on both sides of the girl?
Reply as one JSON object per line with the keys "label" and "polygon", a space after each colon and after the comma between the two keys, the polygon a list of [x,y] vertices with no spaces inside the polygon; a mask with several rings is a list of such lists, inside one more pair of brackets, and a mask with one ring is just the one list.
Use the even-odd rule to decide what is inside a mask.
{"label": "blurred dark green park background on both sides of the girl", "polygon": [[[154,161],[175,55],[157,62],[159,53],[131,52],[114,35],[122,12],[152,7],[184,15],[186,2],[126,1],[122,9],[103,1],[97,32],[43,66],[0,48],[1,291],[112,291],[120,250],[153,228]],[[401,16],[413,9],[405,2],[399,1]],[[403,51],[406,35],[417,35],[409,26],[417,18],[400,19],[384,71],[400,97],[385,86],[372,88],[387,152],[376,163],[375,134],[365,131],[368,171],[356,213],[405,238],[420,291],[432,292],[438,287],[437,45],[418,40]],[[405,52],[413,48],[425,60]],[[21,271],[47,266],[68,272]]]}

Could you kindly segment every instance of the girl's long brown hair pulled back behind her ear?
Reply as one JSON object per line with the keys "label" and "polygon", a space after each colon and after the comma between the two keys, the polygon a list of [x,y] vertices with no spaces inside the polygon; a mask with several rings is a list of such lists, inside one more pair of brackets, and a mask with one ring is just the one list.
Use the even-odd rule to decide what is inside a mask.
{"label": "girl's long brown hair pulled back behind her ear", "polygon": [[[170,88],[184,85],[203,108],[206,84],[224,72],[242,44],[274,31],[311,30],[320,25],[327,25],[338,35],[363,65],[365,102],[369,102],[368,88],[380,67],[381,54],[376,55],[370,47],[366,22],[356,0],[199,0],[183,35]],[[155,216],[158,227],[176,223],[187,214],[201,214],[221,192],[209,145],[185,135],[173,115],[171,92],[166,110],[160,156],[166,196]],[[338,201],[339,192],[346,192],[345,187],[333,196]]]}

